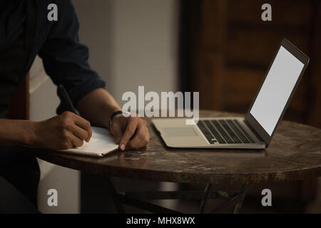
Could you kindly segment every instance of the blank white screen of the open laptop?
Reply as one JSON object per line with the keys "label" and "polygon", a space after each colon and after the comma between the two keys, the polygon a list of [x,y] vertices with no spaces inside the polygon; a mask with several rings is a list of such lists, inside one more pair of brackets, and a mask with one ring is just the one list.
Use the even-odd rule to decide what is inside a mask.
{"label": "blank white screen of the open laptop", "polygon": [[272,135],[304,64],[282,46],[272,63],[250,114]]}

